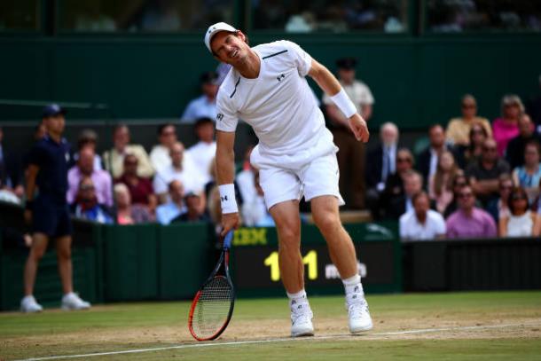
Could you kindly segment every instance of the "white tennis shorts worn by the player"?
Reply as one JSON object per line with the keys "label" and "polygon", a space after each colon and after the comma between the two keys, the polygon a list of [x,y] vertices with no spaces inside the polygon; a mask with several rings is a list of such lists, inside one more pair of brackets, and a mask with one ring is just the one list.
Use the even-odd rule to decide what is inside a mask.
{"label": "white tennis shorts worn by the player", "polygon": [[338,188],[339,177],[334,152],[320,156],[300,169],[265,167],[259,170],[259,183],[268,209],[286,200],[301,200],[304,196],[304,200],[309,201],[322,195],[333,195],[342,206],[345,202]]}

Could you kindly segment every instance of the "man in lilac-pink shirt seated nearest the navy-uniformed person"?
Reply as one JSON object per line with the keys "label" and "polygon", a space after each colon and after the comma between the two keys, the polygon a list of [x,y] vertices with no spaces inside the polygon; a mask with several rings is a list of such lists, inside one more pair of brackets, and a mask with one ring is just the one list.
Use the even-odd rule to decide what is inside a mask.
{"label": "man in lilac-pink shirt seated nearest the navy-uniformed person", "polygon": [[79,152],[77,164],[67,172],[67,202],[69,204],[74,203],[82,177],[90,177],[95,187],[98,203],[113,207],[111,176],[105,170],[94,168],[96,165],[95,155],[92,147],[83,147]]}

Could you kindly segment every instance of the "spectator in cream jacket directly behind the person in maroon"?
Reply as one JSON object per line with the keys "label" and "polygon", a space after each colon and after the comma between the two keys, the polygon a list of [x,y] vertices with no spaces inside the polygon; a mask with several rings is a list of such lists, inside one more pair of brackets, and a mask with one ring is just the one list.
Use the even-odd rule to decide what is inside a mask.
{"label": "spectator in cream jacket directly behind the person in maroon", "polygon": [[103,161],[106,169],[111,172],[114,178],[122,176],[124,172],[124,157],[132,154],[137,158],[137,176],[153,177],[154,169],[145,148],[142,145],[129,144],[129,129],[127,125],[120,124],[114,128],[114,148],[103,154]]}

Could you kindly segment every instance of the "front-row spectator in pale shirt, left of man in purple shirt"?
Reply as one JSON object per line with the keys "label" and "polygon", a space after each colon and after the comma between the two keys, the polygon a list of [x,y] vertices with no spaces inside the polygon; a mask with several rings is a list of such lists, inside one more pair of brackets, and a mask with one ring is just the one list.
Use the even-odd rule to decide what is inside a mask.
{"label": "front-row spectator in pale shirt, left of man in purple shirt", "polygon": [[400,216],[400,239],[429,240],[445,237],[445,220],[435,210],[430,209],[427,192],[419,192],[412,197],[413,210]]}

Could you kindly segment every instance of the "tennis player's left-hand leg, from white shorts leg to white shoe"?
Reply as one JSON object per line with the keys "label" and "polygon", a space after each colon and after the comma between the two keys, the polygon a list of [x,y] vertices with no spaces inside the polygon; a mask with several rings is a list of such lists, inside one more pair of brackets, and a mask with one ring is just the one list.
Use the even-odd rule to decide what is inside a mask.
{"label": "tennis player's left-hand leg, from white shorts leg to white shoe", "polygon": [[278,231],[278,265],[291,309],[291,335],[314,334],[312,312],[304,291],[299,216],[300,181],[285,169],[261,169],[260,184]]}

